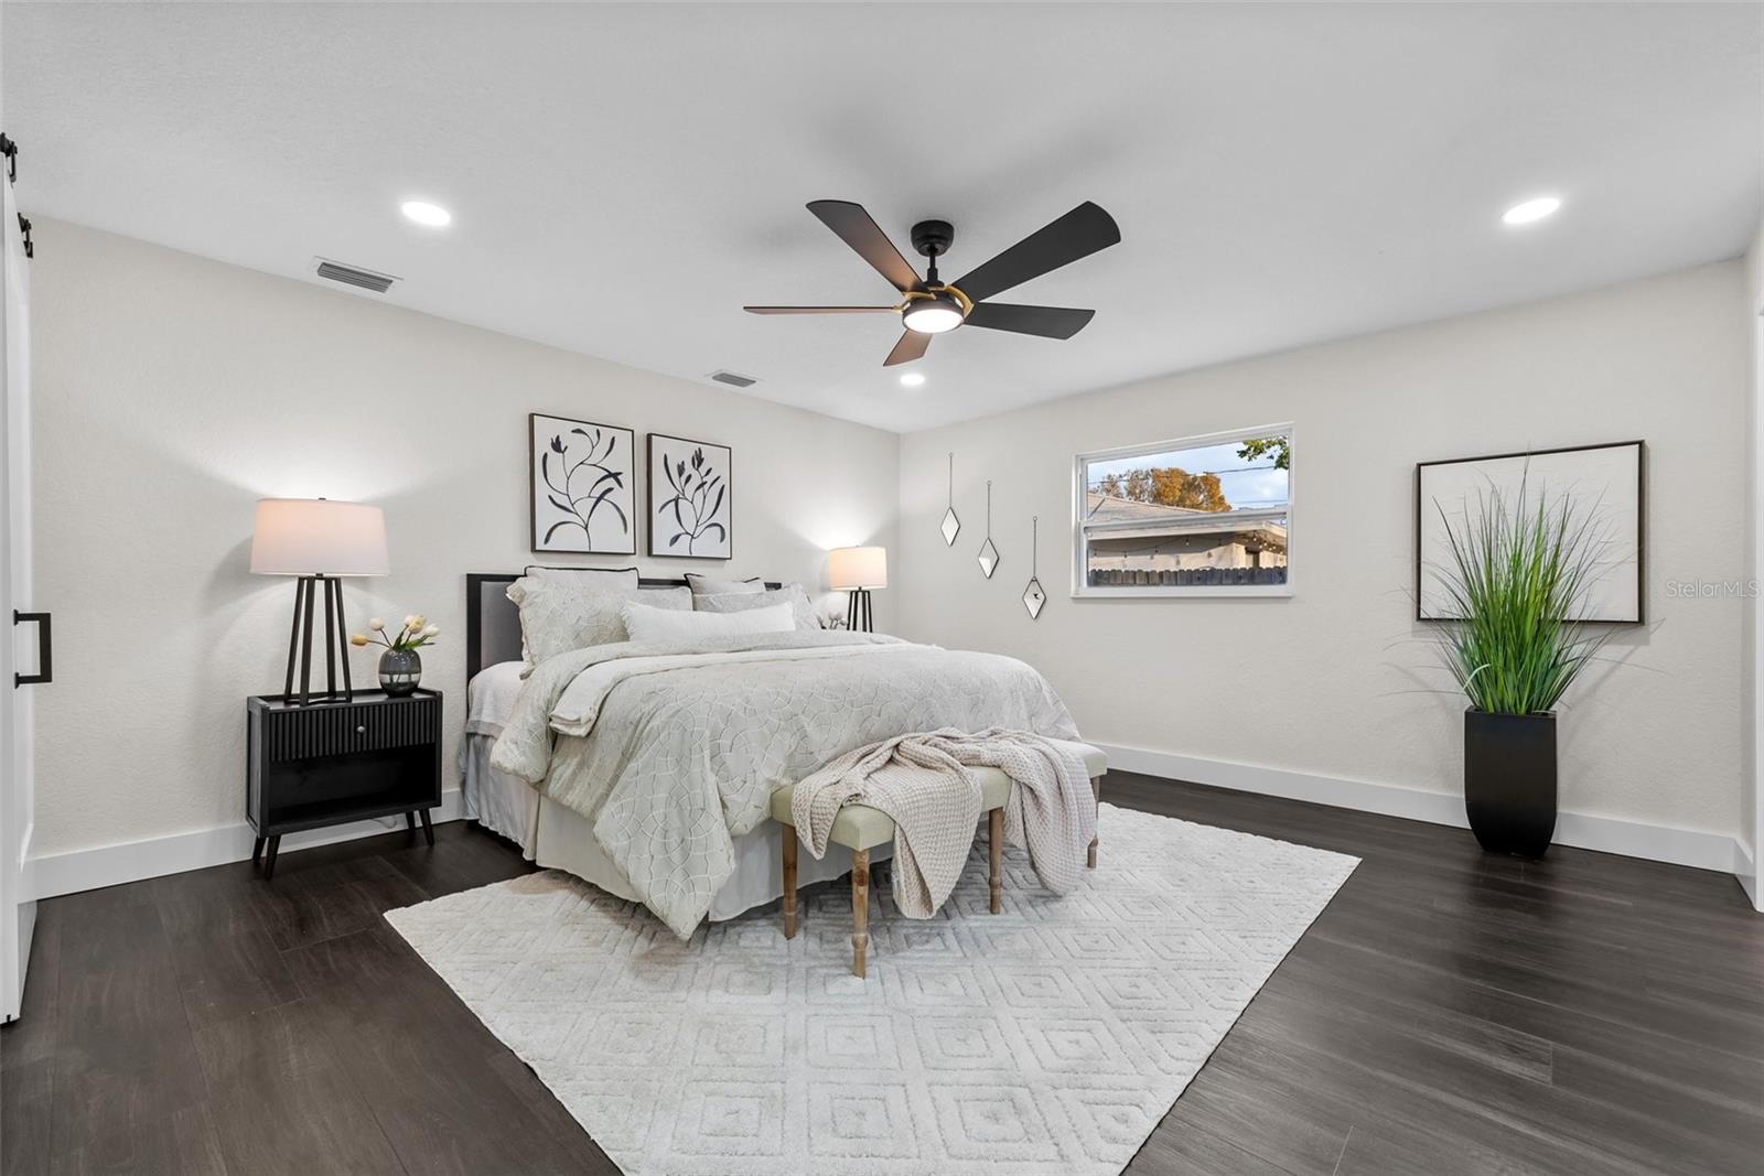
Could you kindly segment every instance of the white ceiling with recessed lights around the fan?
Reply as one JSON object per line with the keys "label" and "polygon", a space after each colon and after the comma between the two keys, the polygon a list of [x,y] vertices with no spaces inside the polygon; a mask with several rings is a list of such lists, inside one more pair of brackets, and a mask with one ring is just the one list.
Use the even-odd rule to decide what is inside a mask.
{"label": "white ceiling with recessed lights around the fan", "polygon": [[[1757,5],[4,9],[26,213],[896,430],[1734,257],[1764,206]],[[893,321],[741,312],[889,301],[817,197],[953,220],[947,277],[1085,199],[1124,240],[1009,294],[1076,339],[903,390]]]}

